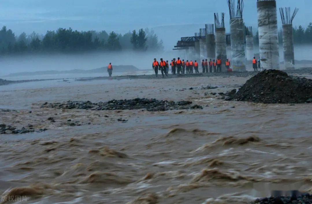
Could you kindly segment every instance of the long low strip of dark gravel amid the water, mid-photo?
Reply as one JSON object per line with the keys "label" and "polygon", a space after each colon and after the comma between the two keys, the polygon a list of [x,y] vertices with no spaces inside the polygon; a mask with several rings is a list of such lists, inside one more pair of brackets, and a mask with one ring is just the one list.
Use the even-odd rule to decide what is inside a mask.
{"label": "long low strip of dark gravel amid the water, mid-photo", "polygon": [[146,109],[147,111],[167,111],[177,109],[202,109],[191,101],[167,101],[147,98],[135,98],[130,100],[111,100],[107,102],[92,103],[90,101],[67,101],[64,103],[44,103],[41,108],[57,109],[92,109],[92,110],[133,110]]}

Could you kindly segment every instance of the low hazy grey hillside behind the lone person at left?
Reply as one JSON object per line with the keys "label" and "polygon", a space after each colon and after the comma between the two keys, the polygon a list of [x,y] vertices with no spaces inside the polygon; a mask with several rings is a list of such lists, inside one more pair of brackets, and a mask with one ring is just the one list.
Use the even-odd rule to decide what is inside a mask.
{"label": "low hazy grey hillside behind the lone person at left", "polygon": [[[114,72],[131,72],[131,71],[138,71],[137,67],[133,65],[113,65]],[[18,72],[13,74],[8,74],[7,76],[15,77],[15,76],[32,76],[32,75],[45,75],[45,74],[93,74],[93,73],[103,73],[107,71],[107,67],[101,67],[97,69],[72,69],[66,71],[56,71],[56,70],[49,70],[49,71],[37,71],[37,72]]]}

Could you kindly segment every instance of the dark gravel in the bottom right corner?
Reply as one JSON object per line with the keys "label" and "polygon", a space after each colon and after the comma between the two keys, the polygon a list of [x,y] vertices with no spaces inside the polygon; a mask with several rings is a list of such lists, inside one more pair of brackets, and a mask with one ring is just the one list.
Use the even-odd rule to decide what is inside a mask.
{"label": "dark gravel in the bottom right corner", "polygon": [[260,198],[256,199],[251,204],[310,204],[312,203],[312,195],[303,194],[300,196],[281,196],[281,197],[269,197],[269,198]]}

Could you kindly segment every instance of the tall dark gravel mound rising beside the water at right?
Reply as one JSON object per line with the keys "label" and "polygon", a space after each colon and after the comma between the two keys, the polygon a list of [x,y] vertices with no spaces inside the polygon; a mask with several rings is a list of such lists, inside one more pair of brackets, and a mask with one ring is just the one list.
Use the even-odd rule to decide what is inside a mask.
{"label": "tall dark gravel mound rising beside the water at right", "polygon": [[279,70],[264,70],[251,77],[238,91],[232,90],[226,100],[259,103],[310,103],[312,80],[293,78]]}

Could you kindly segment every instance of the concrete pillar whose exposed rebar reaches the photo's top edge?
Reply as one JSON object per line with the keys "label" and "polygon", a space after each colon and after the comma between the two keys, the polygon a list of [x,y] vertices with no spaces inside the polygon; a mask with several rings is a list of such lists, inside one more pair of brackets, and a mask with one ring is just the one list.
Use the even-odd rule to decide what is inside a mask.
{"label": "concrete pillar whose exposed rebar reaches the photo's top edge", "polygon": [[231,52],[233,71],[246,71],[245,65],[245,40],[244,40],[244,22],[243,22],[243,0],[227,1],[230,11],[230,32],[231,32]]}

